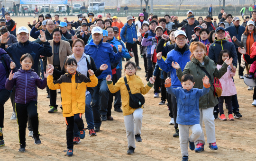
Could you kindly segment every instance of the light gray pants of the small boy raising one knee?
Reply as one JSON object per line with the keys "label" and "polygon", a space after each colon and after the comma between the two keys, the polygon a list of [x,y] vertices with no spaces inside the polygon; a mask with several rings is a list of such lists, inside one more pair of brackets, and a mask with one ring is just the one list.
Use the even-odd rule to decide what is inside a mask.
{"label": "light gray pants of the small boy raising one knee", "polygon": [[[196,139],[198,139],[202,132],[200,124],[195,125],[181,125],[179,126],[179,133],[180,133],[180,146],[181,146],[181,152],[182,156],[188,156],[188,141],[194,142]],[[189,129],[192,130],[191,136],[189,136]]]}

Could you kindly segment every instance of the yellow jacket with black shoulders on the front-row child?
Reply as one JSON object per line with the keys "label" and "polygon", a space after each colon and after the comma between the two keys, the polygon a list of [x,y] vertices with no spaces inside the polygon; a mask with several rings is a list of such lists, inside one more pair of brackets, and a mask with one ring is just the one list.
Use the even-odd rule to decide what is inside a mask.
{"label": "yellow jacket with black shoulders on the front-row child", "polygon": [[86,87],[98,85],[98,78],[76,72],[75,75],[64,74],[58,80],[53,81],[53,76],[47,77],[47,85],[51,90],[61,89],[63,117],[71,117],[85,111]]}

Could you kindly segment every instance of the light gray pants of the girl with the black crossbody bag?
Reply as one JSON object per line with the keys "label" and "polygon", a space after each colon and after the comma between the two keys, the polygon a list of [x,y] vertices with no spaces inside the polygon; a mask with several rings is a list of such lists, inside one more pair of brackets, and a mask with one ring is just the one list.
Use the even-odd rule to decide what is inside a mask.
{"label": "light gray pants of the girl with the black crossbody bag", "polygon": [[128,148],[135,146],[135,135],[141,135],[141,127],[142,127],[142,113],[143,109],[136,109],[132,114],[124,116],[125,128],[126,128],[126,136],[128,140]]}

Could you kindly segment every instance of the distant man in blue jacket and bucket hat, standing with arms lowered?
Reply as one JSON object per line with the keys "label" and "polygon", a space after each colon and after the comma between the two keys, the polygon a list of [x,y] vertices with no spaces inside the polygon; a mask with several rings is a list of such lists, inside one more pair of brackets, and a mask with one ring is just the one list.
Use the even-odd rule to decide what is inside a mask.
{"label": "distant man in blue jacket and bucket hat, standing with arms lowered", "polygon": [[[133,51],[137,70],[141,70],[138,61],[137,43],[133,41],[133,38],[138,39],[136,26],[133,24],[134,18],[132,16],[128,16],[126,17],[126,20],[127,23],[122,27],[120,37],[121,40],[126,44],[128,51]],[[129,60],[130,59],[126,59],[126,61]]]}

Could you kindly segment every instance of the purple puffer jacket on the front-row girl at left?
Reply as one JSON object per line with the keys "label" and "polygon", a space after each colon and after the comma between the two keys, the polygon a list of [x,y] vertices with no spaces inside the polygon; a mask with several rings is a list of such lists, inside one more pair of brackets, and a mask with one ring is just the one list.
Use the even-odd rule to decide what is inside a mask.
{"label": "purple puffer jacket on the front-row girl at left", "polygon": [[47,79],[40,79],[34,69],[23,70],[20,68],[18,72],[14,73],[12,80],[8,78],[5,82],[7,90],[12,90],[14,85],[16,85],[15,103],[26,104],[37,101],[36,88],[45,89]]}

